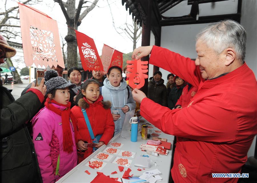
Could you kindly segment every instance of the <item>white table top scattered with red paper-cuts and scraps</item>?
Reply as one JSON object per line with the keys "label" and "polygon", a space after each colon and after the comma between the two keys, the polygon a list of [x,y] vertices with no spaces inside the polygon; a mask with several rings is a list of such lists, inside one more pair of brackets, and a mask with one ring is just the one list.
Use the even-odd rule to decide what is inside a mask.
{"label": "white table top scattered with red paper-cuts and scraps", "polygon": [[[145,122],[147,122],[147,121],[144,118],[141,118],[139,124],[142,124]],[[124,167],[124,171],[127,170],[128,168],[130,168],[132,170],[130,172],[130,175],[134,174],[133,176],[140,176],[143,172],[146,172],[149,170],[154,170],[154,169],[158,168],[158,170],[160,170],[160,172],[162,172],[162,174],[160,176],[163,178],[162,181],[158,181],[158,182],[168,182],[169,175],[170,175],[170,165],[171,165],[171,158],[172,158],[172,148],[173,148],[174,136],[162,133],[159,137],[168,139],[167,142],[171,142],[171,144],[172,144],[172,147],[169,150],[167,156],[160,155],[160,156],[156,157],[156,156],[152,156],[152,155],[147,154],[146,152],[141,151],[139,146],[141,144],[146,144],[147,140],[142,140],[140,134],[138,135],[137,142],[131,142],[130,138],[127,138],[127,139],[122,138],[122,137],[120,137],[120,133],[119,133],[110,140],[109,144],[111,142],[122,143],[122,144],[124,144],[123,147],[117,148],[117,149],[136,152],[136,156],[140,156],[143,154],[148,155],[151,160],[154,160],[157,163],[157,167],[154,165],[153,162],[151,162],[150,168],[145,168],[145,170],[143,170],[142,167],[134,166],[135,158],[128,158],[128,159],[132,160],[132,163],[131,163],[130,167]],[[107,146],[108,146],[108,144],[107,144]],[[97,172],[103,172],[106,176],[110,175],[110,177],[122,178],[124,171],[120,172],[118,169],[119,165],[112,163],[112,160],[114,160],[114,158],[117,155],[114,155],[115,157],[113,157],[113,159],[110,162],[108,162],[107,165],[102,170],[97,170],[97,169],[93,169],[88,166],[85,166],[85,164],[91,158],[93,158],[98,152],[103,151],[105,148],[106,148],[105,145],[100,147],[98,150],[96,150],[93,154],[91,154],[89,157],[87,157],[85,160],[83,160],[83,162],[78,164],[75,168],[73,168],[70,172],[68,172],[65,176],[63,176],[57,182],[91,182],[97,176]],[[118,156],[118,157],[121,157],[121,156]],[[137,170],[138,168],[142,169],[142,171],[138,171]],[[88,175],[87,173],[85,173],[85,170],[88,170],[91,174]],[[114,172],[114,171],[117,171],[118,173],[111,174],[111,172]]]}

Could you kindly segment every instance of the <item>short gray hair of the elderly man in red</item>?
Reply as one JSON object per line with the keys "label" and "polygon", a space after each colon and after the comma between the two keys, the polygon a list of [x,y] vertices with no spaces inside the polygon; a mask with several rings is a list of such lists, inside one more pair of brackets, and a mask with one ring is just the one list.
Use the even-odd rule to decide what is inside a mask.
{"label": "short gray hair of the elderly man in red", "polygon": [[227,48],[234,48],[237,59],[244,61],[246,50],[246,31],[234,20],[210,23],[196,35],[196,41],[203,41],[217,55]]}

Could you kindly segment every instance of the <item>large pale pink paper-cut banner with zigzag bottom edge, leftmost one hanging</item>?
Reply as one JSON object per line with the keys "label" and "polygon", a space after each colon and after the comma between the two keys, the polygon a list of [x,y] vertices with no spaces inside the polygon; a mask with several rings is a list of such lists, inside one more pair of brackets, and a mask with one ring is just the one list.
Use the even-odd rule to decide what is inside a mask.
{"label": "large pale pink paper-cut banner with zigzag bottom edge, leftmost one hanging", "polygon": [[45,13],[19,3],[21,37],[26,66],[35,63],[64,68],[57,22]]}

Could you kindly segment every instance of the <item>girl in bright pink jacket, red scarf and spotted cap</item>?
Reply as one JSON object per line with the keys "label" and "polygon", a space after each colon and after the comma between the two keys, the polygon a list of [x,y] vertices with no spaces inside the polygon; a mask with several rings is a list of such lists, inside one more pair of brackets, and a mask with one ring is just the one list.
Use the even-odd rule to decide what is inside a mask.
{"label": "girl in bright pink jacket, red scarf and spotted cap", "polygon": [[45,107],[32,119],[33,142],[44,183],[59,180],[77,165],[75,118],[69,90],[76,87],[57,76],[45,82]]}

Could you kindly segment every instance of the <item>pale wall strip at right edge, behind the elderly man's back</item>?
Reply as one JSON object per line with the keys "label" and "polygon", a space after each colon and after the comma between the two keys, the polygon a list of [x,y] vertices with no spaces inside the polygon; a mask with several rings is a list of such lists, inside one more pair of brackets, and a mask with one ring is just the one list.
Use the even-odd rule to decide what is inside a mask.
{"label": "pale wall strip at right edge, behind the elderly man's back", "polygon": [[[255,77],[257,75],[257,1],[248,0],[242,1],[242,16],[241,24],[245,27],[247,32],[246,42],[246,58],[247,65],[254,71]],[[248,151],[248,157],[254,156],[256,136]]]}

